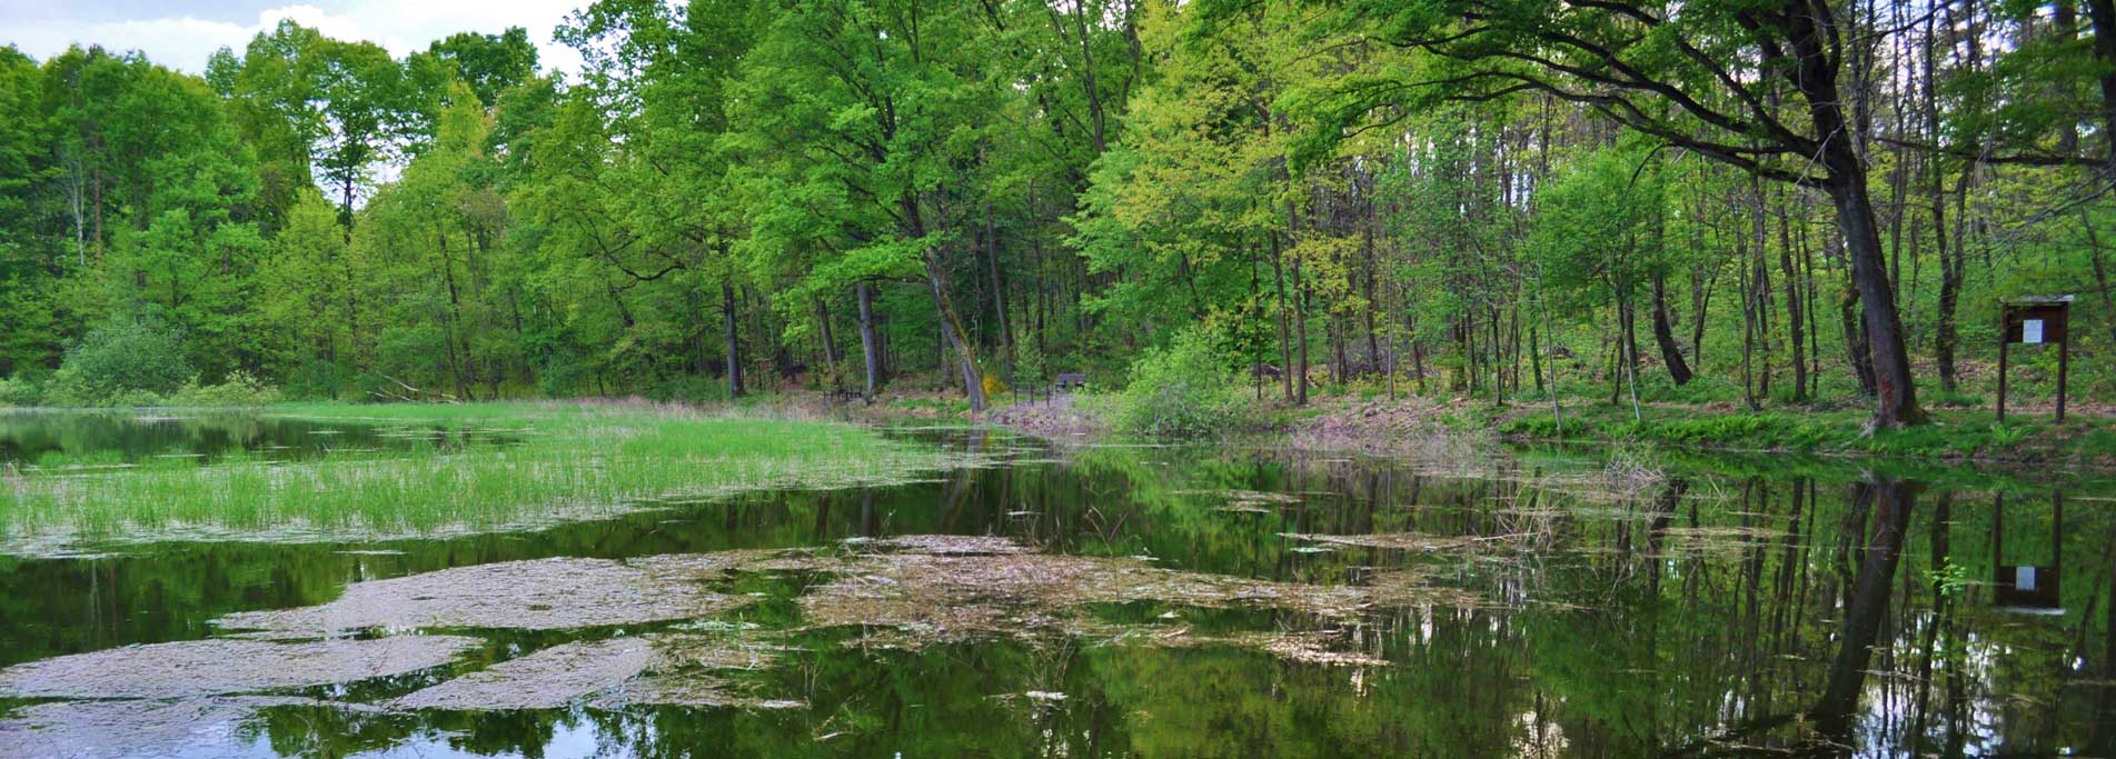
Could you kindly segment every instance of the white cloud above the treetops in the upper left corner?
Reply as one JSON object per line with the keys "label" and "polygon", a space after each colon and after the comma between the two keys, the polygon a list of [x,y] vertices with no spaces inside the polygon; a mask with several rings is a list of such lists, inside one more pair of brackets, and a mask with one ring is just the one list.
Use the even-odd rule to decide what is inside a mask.
{"label": "white cloud above the treetops in the upper left corner", "polygon": [[271,30],[281,19],[322,30],[339,40],[368,40],[391,55],[423,51],[430,42],[455,32],[499,34],[510,25],[529,30],[537,44],[537,61],[546,70],[580,70],[580,55],[550,38],[576,6],[588,0],[343,0],[288,4],[258,13],[256,23],[207,21],[193,15],[125,21],[6,19],[0,15],[0,44],[13,42],[23,53],[47,59],[70,44],[102,44],[112,51],[142,51],[154,63],[182,72],[205,72],[207,57],[220,47],[237,53],[250,38]]}

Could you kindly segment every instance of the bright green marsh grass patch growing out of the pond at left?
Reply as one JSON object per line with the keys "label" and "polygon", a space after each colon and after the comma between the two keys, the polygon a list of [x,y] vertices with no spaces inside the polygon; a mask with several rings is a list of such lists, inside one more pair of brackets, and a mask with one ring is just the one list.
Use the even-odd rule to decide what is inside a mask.
{"label": "bright green marsh grass patch growing out of the pond at left", "polygon": [[525,529],[758,488],[901,482],[933,448],[836,421],[656,404],[286,404],[267,414],[493,431],[510,444],[300,463],[184,459],[106,471],[0,469],[4,550],[87,541],[375,539]]}

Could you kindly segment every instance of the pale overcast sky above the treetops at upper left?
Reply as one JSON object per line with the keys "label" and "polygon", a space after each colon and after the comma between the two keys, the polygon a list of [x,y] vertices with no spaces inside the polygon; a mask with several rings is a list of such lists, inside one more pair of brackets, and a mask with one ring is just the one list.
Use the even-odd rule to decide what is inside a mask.
{"label": "pale overcast sky above the treetops at upper left", "polygon": [[144,51],[154,63],[203,74],[222,47],[241,55],[250,38],[294,19],[341,40],[370,40],[391,55],[423,51],[455,32],[529,30],[544,70],[578,72],[580,55],[550,30],[590,0],[0,0],[0,44],[34,59],[68,44]]}

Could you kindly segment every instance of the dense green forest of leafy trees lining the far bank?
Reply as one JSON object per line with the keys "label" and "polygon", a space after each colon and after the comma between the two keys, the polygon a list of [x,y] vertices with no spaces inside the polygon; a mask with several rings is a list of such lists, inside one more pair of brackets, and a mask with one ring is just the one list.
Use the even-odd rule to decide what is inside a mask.
{"label": "dense green forest of leafy trees lining the far bank", "polygon": [[[1056,374],[2116,393],[2110,0],[599,0],[203,76],[0,49],[0,406],[724,400]],[[2057,353],[2014,349],[2017,402]]]}

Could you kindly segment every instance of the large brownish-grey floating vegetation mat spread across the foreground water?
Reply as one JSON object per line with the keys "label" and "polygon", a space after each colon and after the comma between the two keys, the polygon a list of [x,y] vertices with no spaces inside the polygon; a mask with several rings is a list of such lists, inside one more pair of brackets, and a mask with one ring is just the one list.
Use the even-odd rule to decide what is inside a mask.
{"label": "large brownish-grey floating vegetation mat spread across the foreground water", "polygon": [[[781,622],[770,626],[722,619],[772,596],[730,588],[753,586],[745,575],[760,573],[781,575],[770,581],[785,588],[783,609],[798,617],[777,617]],[[358,581],[317,607],[224,615],[216,619],[231,630],[222,638],[61,655],[0,670],[0,698],[163,700],[78,704],[80,712],[32,706],[0,721],[0,748],[32,746],[30,740],[70,729],[106,732],[112,723],[138,725],[108,729],[110,740],[129,746],[199,742],[176,725],[220,729],[212,725],[279,704],[216,696],[296,696],[320,685],[343,693],[349,683],[402,674],[419,679],[385,683],[387,698],[349,708],[800,706],[770,691],[787,687],[783,677],[758,672],[808,658],[815,645],[923,649],[980,638],[1217,645],[1301,664],[1386,666],[1384,658],[1361,649],[1358,634],[1344,630],[1358,630],[1369,611],[1481,605],[1475,594],[1428,584],[1416,569],[1363,571],[1358,579],[1325,586],[1212,575],[1153,567],[1143,558],[1039,554],[1003,537],[973,535],[476,564]],[[1170,611],[1145,622],[1115,622],[1102,613],[1138,603]],[[1278,617],[1257,619],[1263,630],[1193,634],[1174,609]],[[468,636],[478,630],[537,632],[535,641],[552,641],[557,632],[559,638],[430,681],[434,672],[423,670],[459,662],[468,651],[514,649]],[[601,636],[601,630],[622,632]],[[404,687],[419,689],[406,693]]]}

